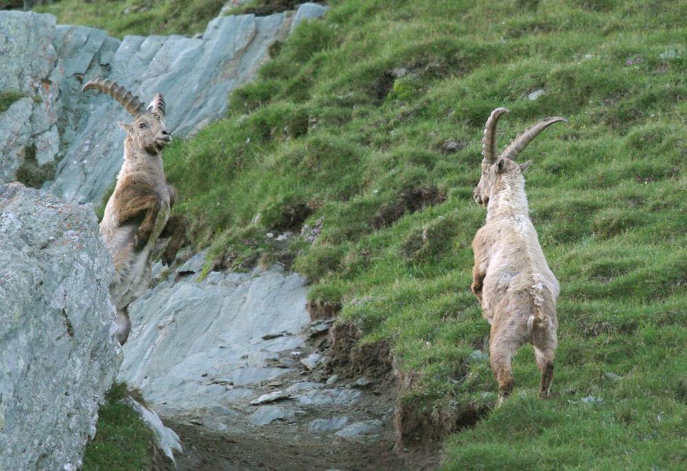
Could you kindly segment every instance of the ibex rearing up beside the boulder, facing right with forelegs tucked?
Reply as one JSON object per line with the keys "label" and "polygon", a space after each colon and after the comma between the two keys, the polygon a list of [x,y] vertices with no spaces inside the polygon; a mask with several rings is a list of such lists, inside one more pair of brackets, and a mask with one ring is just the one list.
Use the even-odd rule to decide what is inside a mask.
{"label": "ibex rearing up beside the boulder, facing right with forelegs tucked", "polygon": [[165,101],[160,93],[146,106],[117,82],[96,78],[82,91],[100,90],[122,104],[133,124],[117,122],[126,131],[124,164],[107,202],[100,235],[115,262],[110,295],[117,308],[119,341],[126,342],[131,321],[128,305],[150,283],[150,257],[158,238],[170,238],[162,263],[170,266],[188,228],[186,216],[171,216],[177,191],[167,184],[160,154],[172,137],[165,127]]}

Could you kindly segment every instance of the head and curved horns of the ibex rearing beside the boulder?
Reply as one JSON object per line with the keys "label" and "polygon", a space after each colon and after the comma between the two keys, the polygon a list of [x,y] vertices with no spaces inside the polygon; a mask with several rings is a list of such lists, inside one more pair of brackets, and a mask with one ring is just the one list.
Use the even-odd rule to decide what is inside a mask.
{"label": "head and curved horns of the ibex rearing beside the boulder", "polygon": [[89,89],[107,93],[126,108],[134,122],[132,124],[117,122],[117,124],[126,131],[128,139],[131,139],[135,148],[147,154],[156,155],[172,142],[172,136],[165,127],[165,100],[161,93],[154,95],[153,102],[146,109],[137,96],[132,95],[121,85],[117,85],[117,82],[113,80],[96,78],[85,84],[81,91]]}

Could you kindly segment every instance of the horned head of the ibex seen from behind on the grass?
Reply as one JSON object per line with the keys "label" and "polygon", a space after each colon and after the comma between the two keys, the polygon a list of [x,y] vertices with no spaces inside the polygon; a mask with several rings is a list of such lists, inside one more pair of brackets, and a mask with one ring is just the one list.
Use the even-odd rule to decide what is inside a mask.
{"label": "horned head of the ibex seen from behind on the grass", "polygon": [[484,207],[489,203],[489,195],[499,176],[511,172],[522,174],[522,172],[527,170],[532,163],[531,160],[521,163],[520,165],[515,163],[515,159],[517,159],[520,152],[522,152],[523,149],[541,133],[541,131],[548,128],[551,124],[559,121],[567,123],[567,119],[560,116],[540,119],[537,123],[526,128],[524,133],[518,134],[515,136],[515,139],[511,139],[504,150],[497,155],[496,124],[499,117],[504,115],[504,113],[508,113],[506,108],[496,108],[491,112],[489,119],[486,120],[486,126],[484,128],[484,137],[482,138],[482,155],[484,156],[484,159],[482,159],[482,176],[480,178],[480,183],[477,183],[473,192],[475,203],[483,205]]}

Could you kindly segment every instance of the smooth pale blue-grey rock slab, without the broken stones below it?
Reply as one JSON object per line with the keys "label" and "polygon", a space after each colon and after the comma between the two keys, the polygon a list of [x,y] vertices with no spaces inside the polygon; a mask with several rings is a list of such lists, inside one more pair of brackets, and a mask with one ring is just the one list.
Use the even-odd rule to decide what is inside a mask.
{"label": "smooth pale blue-grey rock slab, without the broken stones below it", "polygon": [[[133,327],[118,378],[161,413],[253,400],[255,384],[294,371],[277,364],[278,352],[304,345],[303,277],[213,272],[198,283],[203,256],[176,271],[186,274],[178,282],[161,282],[129,306]],[[271,331],[291,335],[262,338]]]}

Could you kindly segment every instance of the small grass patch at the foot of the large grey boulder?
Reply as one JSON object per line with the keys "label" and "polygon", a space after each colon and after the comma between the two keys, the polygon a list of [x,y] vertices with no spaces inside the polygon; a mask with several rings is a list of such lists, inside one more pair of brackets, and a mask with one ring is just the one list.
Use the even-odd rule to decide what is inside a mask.
{"label": "small grass patch at the foot of the large grey boulder", "polygon": [[126,384],[113,384],[98,411],[95,438],[86,447],[83,471],[140,471],[150,466],[153,432],[122,399]]}

